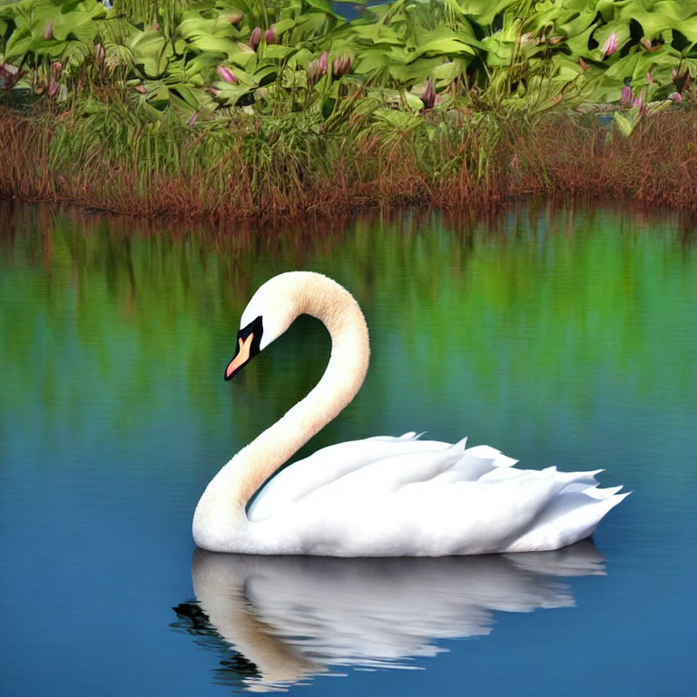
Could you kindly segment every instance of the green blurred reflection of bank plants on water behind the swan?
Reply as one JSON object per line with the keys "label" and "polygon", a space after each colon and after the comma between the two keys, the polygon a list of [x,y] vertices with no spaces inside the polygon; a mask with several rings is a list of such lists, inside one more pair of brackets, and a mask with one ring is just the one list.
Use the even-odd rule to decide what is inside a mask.
{"label": "green blurred reflection of bank plants on water behind the swan", "polygon": [[674,214],[526,204],[485,222],[222,233],[8,204],[0,231],[0,434],[33,423],[56,448],[128,442],[179,412],[197,438],[229,430],[230,455],[326,363],[329,339],[304,319],[222,381],[246,301],[292,269],[346,285],[373,344],[360,398],[310,449],[471,432],[543,466],[550,431],[565,420],[583,437],[614,402],[695,413],[697,253]]}

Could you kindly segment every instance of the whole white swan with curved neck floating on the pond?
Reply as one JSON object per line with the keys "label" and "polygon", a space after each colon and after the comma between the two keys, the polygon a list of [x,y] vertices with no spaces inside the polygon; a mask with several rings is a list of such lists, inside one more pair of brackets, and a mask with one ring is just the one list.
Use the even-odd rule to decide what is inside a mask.
{"label": "whole white swan with curved neck floating on the pond", "polygon": [[277,472],[348,405],[368,370],[368,327],[356,299],[319,273],[290,271],[260,286],[242,312],[225,379],[303,313],[329,330],[329,364],[305,398],[211,479],[193,515],[199,547],[327,556],[554,550],[592,535],[627,496],[621,486],[598,487],[603,470],[519,469],[493,447],[414,432],[325,447]]}

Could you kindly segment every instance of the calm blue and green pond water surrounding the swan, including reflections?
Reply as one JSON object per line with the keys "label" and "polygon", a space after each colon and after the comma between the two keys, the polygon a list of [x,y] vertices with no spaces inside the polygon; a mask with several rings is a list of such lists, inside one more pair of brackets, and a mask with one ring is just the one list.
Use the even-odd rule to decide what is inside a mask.
{"label": "calm blue and green pond water surrounding the swan, including reflections", "polygon": [[[690,221],[522,204],[232,233],[0,208],[0,694],[691,692]],[[191,564],[213,472],[324,368],[329,339],[300,319],[222,380],[250,293],[292,269],[352,290],[373,346],[304,454],[417,429],[604,467],[633,495],[595,546]]]}

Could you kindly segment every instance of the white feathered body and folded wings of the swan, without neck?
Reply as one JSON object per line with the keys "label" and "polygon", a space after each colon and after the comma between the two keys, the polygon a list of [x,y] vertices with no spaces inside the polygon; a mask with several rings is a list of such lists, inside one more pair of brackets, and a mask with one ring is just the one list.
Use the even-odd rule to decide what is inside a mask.
{"label": "white feathered body and folded wings of the swan, without neck", "polygon": [[[250,506],[299,554],[447,555],[557,549],[591,535],[626,494],[591,472],[517,469],[488,446],[373,437],[282,470]],[[279,533],[281,535],[281,533]],[[373,551],[374,550],[374,551]]]}

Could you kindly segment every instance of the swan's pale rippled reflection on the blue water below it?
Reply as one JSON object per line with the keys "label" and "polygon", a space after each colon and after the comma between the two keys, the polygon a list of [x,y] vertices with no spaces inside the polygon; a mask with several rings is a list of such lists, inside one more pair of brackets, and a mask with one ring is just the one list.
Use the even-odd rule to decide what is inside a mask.
{"label": "swan's pale rippled reflection on the blue water below it", "polygon": [[265,690],[329,666],[413,666],[444,651],[439,639],[490,633],[496,610],[573,606],[557,577],[604,574],[604,559],[590,540],[556,552],[437,559],[197,549],[191,574],[209,632],[244,656],[246,687]]}

